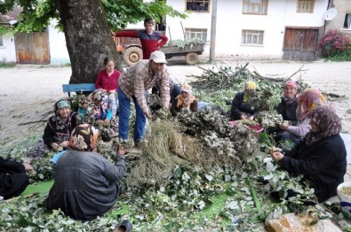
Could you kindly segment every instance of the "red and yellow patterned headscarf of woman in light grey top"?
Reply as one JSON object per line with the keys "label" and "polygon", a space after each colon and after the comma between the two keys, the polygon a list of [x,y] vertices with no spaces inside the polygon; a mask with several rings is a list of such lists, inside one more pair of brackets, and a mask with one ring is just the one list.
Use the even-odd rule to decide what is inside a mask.
{"label": "red and yellow patterned headscarf of woman in light grey top", "polygon": [[299,113],[298,119],[305,120],[308,112],[325,104],[326,99],[318,89],[305,89],[299,96],[299,102],[302,104],[302,112]]}

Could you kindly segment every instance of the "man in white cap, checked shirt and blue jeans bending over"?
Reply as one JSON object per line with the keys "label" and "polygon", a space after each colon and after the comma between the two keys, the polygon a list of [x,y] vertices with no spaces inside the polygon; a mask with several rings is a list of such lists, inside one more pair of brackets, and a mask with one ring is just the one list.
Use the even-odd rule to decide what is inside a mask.
{"label": "man in white cap, checked shirt and blue jeans bending over", "polygon": [[145,133],[146,118],[152,120],[148,110],[145,91],[161,83],[161,100],[164,108],[170,104],[169,73],[164,52],[156,50],[151,53],[149,60],[141,60],[130,67],[118,80],[119,101],[119,137],[128,139],[131,98],[135,104],[136,120],[134,128],[134,143],[139,143]]}

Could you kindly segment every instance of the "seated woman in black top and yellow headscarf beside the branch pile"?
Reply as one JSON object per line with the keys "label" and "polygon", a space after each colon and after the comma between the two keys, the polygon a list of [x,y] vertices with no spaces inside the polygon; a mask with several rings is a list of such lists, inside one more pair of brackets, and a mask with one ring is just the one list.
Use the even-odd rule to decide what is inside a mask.
{"label": "seated woman in black top and yellow headscarf beside the branch pile", "polygon": [[243,92],[238,92],[232,102],[230,120],[255,120],[259,116],[259,110],[249,104],[250,96],[256,91],[256,83],[247,81]]}

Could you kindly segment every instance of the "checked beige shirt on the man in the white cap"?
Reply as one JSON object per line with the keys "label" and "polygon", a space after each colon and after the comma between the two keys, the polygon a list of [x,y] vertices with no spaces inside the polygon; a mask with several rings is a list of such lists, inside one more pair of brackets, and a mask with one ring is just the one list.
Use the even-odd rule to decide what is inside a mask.
{"label": "checked beige shirt on the man in the white cap", "polygon": [[142,111],[147,117],[150,117],[144,92],[154,87],[156,82],[161,83],[161,101],[164,108],[168,108],[171,97],[169,73],[166,65],[164,65],[163,72],[152,73],[149,60],[141,60],[121,75],[118,80],[118,86],[124,91],[126,97],[131,98],[135,96]]}

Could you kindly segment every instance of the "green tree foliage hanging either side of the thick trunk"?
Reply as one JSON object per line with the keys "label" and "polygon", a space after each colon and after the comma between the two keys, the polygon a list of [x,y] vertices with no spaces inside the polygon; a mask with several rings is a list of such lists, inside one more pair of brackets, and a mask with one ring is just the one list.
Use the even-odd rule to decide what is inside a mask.
{"label": "green tree foliage hanging either side of the thick trunk", "polygon": [[[143,3],[142,0],[101,0],[107,14],[109,26],[113,29],[124,28],[129,23],[137,23],[146,17],[160,21],[166,14],[172,17],[185,18],[186,14],[175,11],[165,4],[164,0]],[[19,15],[18,32],[42,31],[57,19],[62,31],[62,21],[54,0],[4,0],[0,1],[0,13],[12,11],[19,6],[23,11]]]}

